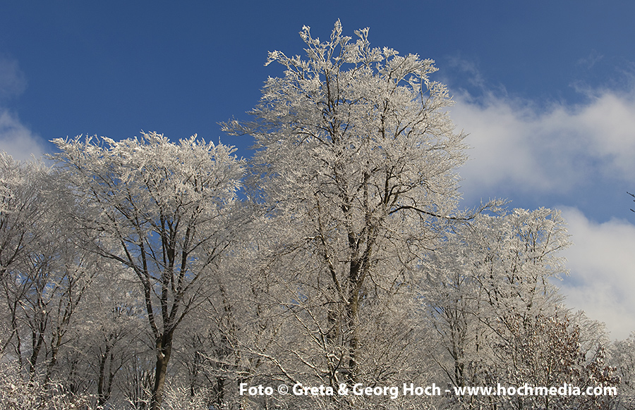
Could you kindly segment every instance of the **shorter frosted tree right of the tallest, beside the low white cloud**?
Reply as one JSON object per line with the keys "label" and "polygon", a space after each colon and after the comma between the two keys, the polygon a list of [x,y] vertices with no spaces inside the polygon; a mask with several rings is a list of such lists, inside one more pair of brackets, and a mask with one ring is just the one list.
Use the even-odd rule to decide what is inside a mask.
{"label": "shorter frosted tree right of the tallest, beside the low white cloud", "polygon": [[557,252],[568,246],[560,212],[514,209],[456,226],[430,254],[423,295],[430,324],[452,358],[442,368],[454,385],[482,382],[474,380],[475,366],[492,362],[477,361],[491,359],[490,346],[519,321],[531,325],[557,313],[562,297],[549,279],[567,273]]}

